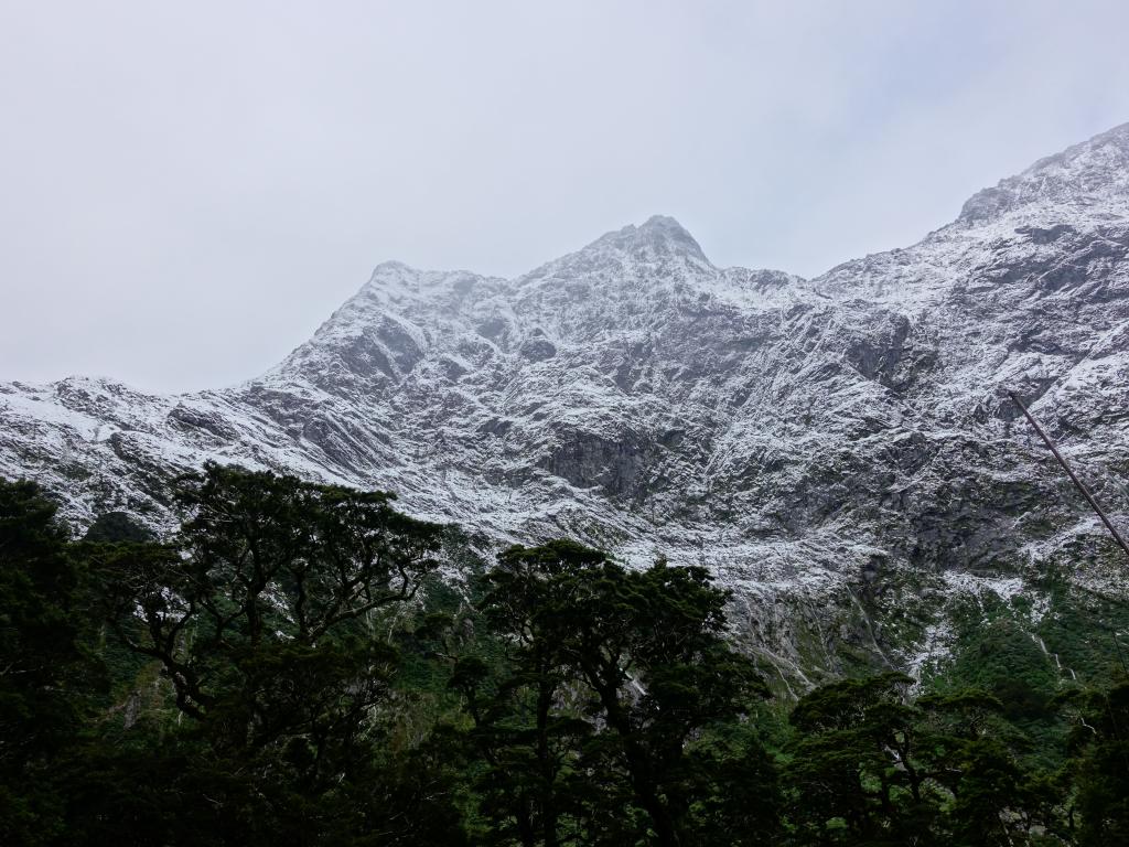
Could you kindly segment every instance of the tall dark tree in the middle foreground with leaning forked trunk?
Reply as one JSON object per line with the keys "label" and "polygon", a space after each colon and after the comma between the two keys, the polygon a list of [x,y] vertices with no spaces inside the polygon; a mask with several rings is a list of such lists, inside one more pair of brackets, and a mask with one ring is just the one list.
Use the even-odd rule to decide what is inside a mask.
{"label": "tall dark tree in the middle foreground with leaning forked trunk", "polygon": [[[524,750],[526,766],[507,760],[496,772],[517,780],[511,796],[536,810],[511,805],[510,817],[542,824],[518,823],[523,844],[557,844],[564,835],[586,844],[704,842],[707,831],[725,828],[719,819],[738,811],[714,794],[733,787],[711,775],[718,761],[732,766],[730,776],[742,766],[755,770],[756,788],[769,789],[741,806],[742,826],[729,828],[729,840],[763,838],[774,819],[767,757],[749,739],[727,748],[721,735],[712,746],[707,736],[739,724],[767,689],[728,647],[728,594],[704,569],[660,561],[634,571],[555,541],[506,551],[487,585],[484,618],[511,647],[504,678],[487,691],[492,711],[482,706],[484,669],[463,682],[471,683],[464,690],[480,732],[489,728],[484,737],[517,731],[507,749]],[[751,809],[761,813],[755,835]]]}

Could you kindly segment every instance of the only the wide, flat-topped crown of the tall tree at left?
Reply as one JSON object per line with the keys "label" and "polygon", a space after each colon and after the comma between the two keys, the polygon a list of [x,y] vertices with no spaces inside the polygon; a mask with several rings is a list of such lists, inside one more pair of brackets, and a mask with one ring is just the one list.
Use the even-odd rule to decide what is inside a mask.
{"label": "only the wide, flat-topped crown of the tall tree at left", "polygon": [[[332,664],[330,654],[345,643],[357,657],[366,640],[364,662],[379,664],[374,639],[359,638],[367,622],[412,599],[437,566],[441,529],[402,515],[392,500],[208,465],[180,480],[186,521],[175,543],[104,552],[111,617],[125,621],[121,634],[133,649],[161,662],[185,714],[202,718],[222,700],[231,709],[234,673],[254,683],[239,692],[248,719],[264,718],[289,698],[255,681],[256,662],[286,654],[316,675],[316,657]],[[345,699],[355,696],[367,695]]]}

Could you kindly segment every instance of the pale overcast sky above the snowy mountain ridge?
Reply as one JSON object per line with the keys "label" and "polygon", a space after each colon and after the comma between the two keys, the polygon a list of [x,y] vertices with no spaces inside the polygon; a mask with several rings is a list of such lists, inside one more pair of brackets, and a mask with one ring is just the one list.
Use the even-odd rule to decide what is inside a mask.
{"label": "pale overcast sky above the snowy mountain ridge", "polygon": [[1129,121],[1124,0],[0,0],[0,379],[257,375],[399,259],[815,276]]}

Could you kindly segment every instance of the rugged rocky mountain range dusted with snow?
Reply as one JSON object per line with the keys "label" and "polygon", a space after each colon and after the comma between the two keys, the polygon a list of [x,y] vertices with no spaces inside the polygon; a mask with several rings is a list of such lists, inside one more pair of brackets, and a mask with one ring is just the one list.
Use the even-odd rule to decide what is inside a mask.
{"label": "rugged rocky mountain range dusted with snow", "polygon": [[0,473],[78,524],[167,525],[209,459],[390,489],[498,541],[703,562],[784,676],[916,665],[954,593],[1129,573],[1004,393],[1129,529],[1127,254],[1129,124],[812,280],[717,268],[664,217],[513,280],[388,262],[234,388],[0,385]]}

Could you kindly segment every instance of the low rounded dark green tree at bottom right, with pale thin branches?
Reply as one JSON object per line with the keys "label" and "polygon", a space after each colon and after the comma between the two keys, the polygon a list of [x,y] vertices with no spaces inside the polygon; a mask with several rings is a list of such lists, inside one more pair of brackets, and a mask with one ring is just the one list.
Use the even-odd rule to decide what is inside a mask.
{"label": "low rounded dark green tree at bottom right, with pale thin branches", "polygon": [[[815,689],[785,770],[798,844],[1017,847],[1053,838],[1060,797],[984,691],[913,701],[887,673]],[[1049,841],[1058,842],[1058,841]]]}

